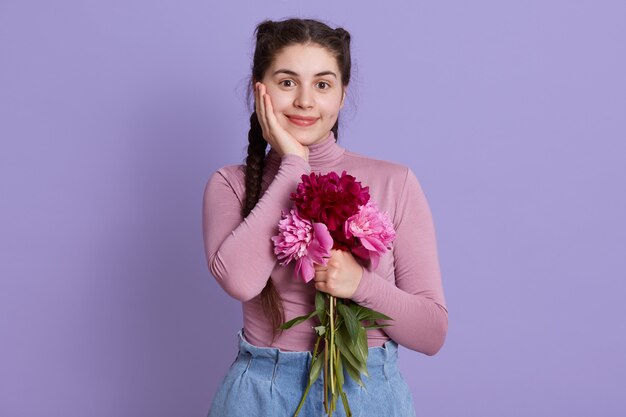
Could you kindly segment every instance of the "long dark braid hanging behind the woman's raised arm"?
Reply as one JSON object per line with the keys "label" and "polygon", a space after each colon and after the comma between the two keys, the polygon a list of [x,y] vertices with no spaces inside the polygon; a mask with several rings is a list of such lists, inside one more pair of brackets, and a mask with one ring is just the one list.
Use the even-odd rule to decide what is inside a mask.
{"label": "long dark braid hanging behind the woman's raised arm", "polygon": [[[261,196],[263,168],[265,166],[265,149],[267,141],[263,138],[263,130],[256,112],[250,116],[250,130],[248,131],[248,156],[246,158],[245,184],[246,197],[242,209],[243,217],[247,217]],[[276,339],[279,326],[285,321],[285,311],[278,291],[271,277],[259,295],[263,312],[270,318],[272,324],[272,342]]]}

